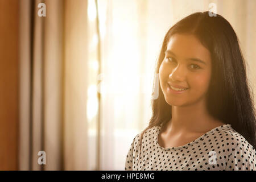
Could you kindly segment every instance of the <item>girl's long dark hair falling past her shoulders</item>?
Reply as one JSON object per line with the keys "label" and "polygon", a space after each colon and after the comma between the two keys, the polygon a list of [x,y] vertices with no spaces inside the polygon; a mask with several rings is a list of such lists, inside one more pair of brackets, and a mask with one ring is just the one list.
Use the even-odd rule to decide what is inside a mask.
{"label": "girl's long dark hair falling past her shoulders", "polygon": [[[216,119],[232,125],[255,148],[255,108],[253,93],[249,89],[245,60],[236,32],[221,15],[209,16],[209,11],[191,14],[174,24],[163,40],[155,73],[164,59],[168,41],[174,34],[196,36],[210,52],[212,77],[207,93],[207,108]],[[154,82],[155,84],[155,82]],[[160,86],[159,97],[151,101],[152,117],[144,132],[171,119],[171,106],[167,104]],[[141,148],[141,147],[140,147]]]}

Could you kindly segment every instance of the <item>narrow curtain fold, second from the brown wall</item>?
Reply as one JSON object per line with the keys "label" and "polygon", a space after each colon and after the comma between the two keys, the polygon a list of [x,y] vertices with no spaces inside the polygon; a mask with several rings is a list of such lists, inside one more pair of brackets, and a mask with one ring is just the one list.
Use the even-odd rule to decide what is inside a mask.
{"label": "narrow curtain fold, second from the brown wall", "polygon": [[[40,0],[35,1],[34,16],[34,37],[32,38],[32,155],[31,167],[33,170],[40,170],[38,165],[38,152],[44,151],[43,126],[44,126],[44,18],[37,15],[37,5]],[[30,131],[31,132],[31,131]]]}

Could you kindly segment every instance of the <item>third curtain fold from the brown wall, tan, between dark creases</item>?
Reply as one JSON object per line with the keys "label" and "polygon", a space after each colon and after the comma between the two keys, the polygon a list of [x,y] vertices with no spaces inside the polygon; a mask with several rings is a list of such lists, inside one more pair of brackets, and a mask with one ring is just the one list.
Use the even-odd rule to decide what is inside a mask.
{"label": "third curtain fold from the brown wall, tan, between dark creases", "polygon": [[46,170],[63,169],[63,1],[46,0],[44,22],[44,150]]}

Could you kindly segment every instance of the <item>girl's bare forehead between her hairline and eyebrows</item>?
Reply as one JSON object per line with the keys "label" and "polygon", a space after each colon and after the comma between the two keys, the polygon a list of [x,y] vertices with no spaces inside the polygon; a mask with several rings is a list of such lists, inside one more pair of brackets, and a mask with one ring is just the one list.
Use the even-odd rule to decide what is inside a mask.
{"label": "girl's bare forehead between her hairline and eyebrows", "polygon": [[210,52],[201,44],[195,35],[174,34],[167,43],[167,52],[173,52],[176,57],[187,59],[197,57],[205,61],[210,61]]}

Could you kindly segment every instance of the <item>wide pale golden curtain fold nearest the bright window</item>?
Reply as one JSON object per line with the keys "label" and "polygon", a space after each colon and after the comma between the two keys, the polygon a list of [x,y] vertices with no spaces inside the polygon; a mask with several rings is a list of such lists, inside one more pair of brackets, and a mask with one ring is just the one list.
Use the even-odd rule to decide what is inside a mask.
{"label": "wide pale golden curtain fold nearest the bright window", "polygon": [[87,1],[64,5],[64,169],[87,169]]}

